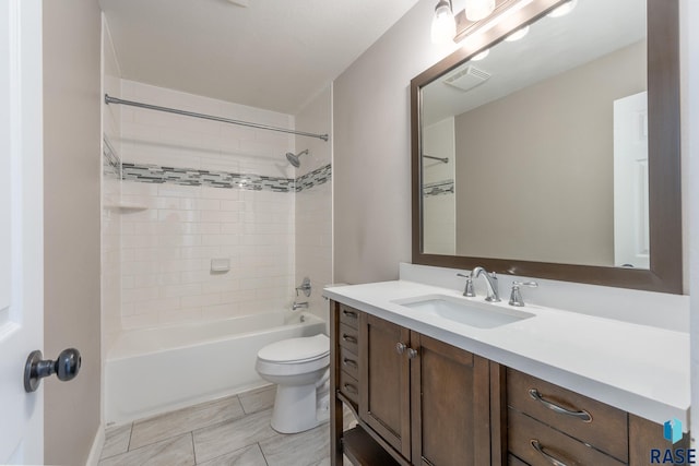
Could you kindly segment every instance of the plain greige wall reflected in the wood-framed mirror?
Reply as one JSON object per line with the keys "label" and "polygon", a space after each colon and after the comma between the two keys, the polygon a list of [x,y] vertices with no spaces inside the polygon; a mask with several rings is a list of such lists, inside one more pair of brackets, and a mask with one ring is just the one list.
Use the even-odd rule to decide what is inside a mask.
{"label": "plain greige wall reflected in the wood-framed mirror", "polygon": [[614,265],[615,99],[645,41],[457,117],[457,253]]}

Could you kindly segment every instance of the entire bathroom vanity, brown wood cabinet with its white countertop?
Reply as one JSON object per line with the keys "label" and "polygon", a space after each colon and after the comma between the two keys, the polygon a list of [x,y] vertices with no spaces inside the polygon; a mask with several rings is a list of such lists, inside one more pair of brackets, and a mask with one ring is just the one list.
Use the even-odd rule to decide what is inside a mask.
{"label": "entire bathroom vanity, brown wood cabinet with its white countertop", "polygon": [[[662,426],[687,425],[682,333],[538,306],[512,314],[406,280],[325,296],[332,464],[344,453],[357,465],[647,465],[651,449],[687,447]],[[472,326],[414,304],[434,300],[513,318]],[[655,353],[671,343],[680,360]],[[343,405],[358,419],[348,431]]]}

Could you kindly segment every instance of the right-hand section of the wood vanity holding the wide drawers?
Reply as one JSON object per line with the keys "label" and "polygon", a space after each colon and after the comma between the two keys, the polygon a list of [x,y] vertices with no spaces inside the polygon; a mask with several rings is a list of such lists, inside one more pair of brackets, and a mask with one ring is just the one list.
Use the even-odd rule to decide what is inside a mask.
{"label": "right-hand section of the wood vanity holding the wide drawers", "polygon": [[[663,427],[513,369],[507,369],[509,465],[645,466],[675,445]],[[556,463],[557,462],[557,463]]]}

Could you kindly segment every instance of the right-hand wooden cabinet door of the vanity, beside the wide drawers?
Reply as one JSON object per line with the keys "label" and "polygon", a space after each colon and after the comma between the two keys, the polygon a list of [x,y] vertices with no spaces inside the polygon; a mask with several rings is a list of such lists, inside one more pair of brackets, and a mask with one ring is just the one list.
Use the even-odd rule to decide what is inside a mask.
{"label": "right-hand wooden cabinet door of the vanity, beside the wide drawers", "polygon": [[488,361],[411,332],[413,464],[490,464]]}

